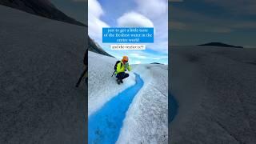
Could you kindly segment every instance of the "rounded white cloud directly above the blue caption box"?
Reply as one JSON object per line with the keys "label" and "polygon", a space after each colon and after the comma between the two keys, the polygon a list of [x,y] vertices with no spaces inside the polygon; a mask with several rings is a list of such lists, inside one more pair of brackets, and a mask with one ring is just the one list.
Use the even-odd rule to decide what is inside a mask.
{"label": "rounded white cloud directly above the blue caption box", "polygon": [[117,21],[121,27],[154,27],[149,18],[137,12],[123,14]]}

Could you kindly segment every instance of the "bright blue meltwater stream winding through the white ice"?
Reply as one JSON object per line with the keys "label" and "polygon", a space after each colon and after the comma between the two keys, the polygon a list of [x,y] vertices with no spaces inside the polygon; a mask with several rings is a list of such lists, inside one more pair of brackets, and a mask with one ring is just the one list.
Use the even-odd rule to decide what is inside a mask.
{"label": "bright blue meltwater stream winding through the white ice", "polygon": [[136,83],[122,93],[106,102],[104,106],[88,120],[88,143],[114,144],[118,140],[122,121],[126,117],[130,103],[134,96],[142,88],[144,82],[138,74]]}

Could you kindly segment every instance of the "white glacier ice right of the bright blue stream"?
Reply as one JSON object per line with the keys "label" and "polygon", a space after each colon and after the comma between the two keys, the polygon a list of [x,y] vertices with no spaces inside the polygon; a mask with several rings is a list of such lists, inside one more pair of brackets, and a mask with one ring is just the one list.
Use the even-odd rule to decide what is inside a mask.
{"label": "white glacier ice right of the bright blue stream", "polygon": [[168,66],[137,65],[145,84],[130,105],[117,143],[168,143]]}

